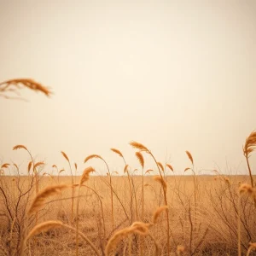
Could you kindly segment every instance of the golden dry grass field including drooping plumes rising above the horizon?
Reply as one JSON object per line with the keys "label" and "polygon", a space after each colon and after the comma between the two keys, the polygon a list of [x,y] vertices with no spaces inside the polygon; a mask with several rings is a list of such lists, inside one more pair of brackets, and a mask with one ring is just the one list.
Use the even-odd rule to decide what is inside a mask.
{"label": "golden dry grass field including drooping plumes rising above the horizon", "polygon": [[[78,184],[61,177],[63,170],[55,165],[55,175],[43,172],[44,162],[34,163],[32,156],[26,177],[19,175],[17,165],[1,163],[0,255],[253,255],[253,175],[223,176],[215,171],[198,176],[186,151],[192,166],[185,170],[193,175],[166,176],[148,148],[135,142],[131,146],[139,150],[140,176],[131,175],[116,148],[111,150],[123,158],[124,176],[112,176],[107,162],[91,154],[84,163],[103,160],[108,176],[89,176],[94,168],[87,167]],[[30,154],[23,145],[14,149]],[[252,154],[253,149],[253,139],[248,138],[244,150]],[[144,153],[152,156],[158,172],[144,172]],[[61,154],[73,175],[67,154]],[[174,172],[171,165],[165,166]]]}

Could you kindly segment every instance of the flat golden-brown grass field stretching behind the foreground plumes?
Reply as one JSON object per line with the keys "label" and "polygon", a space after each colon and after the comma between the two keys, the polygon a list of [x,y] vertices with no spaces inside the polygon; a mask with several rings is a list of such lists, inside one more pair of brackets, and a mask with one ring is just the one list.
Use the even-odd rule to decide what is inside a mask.
{"label": "flat golden-brown grass field stretching behind the foreground plumes", "polygon": [[[20,241],[35,224],[58,220],[74,230],[53,226],[32,236],[23,247],[24,255],[96,255],[79,231],[96,247],[99,255],[106,253],[110,237],[135,221],[153,223],[145,234],[136,230],[118,238],[108,255],[167,255],[166,209],[156,221],[154,212],[165,206],[163,187],[154,176],[112,177],[113,218],[109,177],[90,177],[72,193],[71,177],[38,176],[38,190],[60,183],[70,185],[60,194],[47,196],[38,211],[28,216],[28,208],[36,195],[34,176],[1,177],[1,188],[9,193],[9,201],[1,197],[1,253],[19,255]],[[255,207],[248,195],[239,202],[238,188],[249,183],[248,176],[166,176],[168,199],[170,255],[237,255],[237,214],[241,205],[241,253],[246,254],[250,241],[256,241]],[[79,183],[80,177],[73,177]],[[130,181],[130,183],[129,183]],[[144,185],[143,185],[144,184]],[[85,185],[87,187],[85,187]],[[131,186],[130,186],[131,185]],[[32,190],[20,197],[18,188]],[[194,192],[196,194],[194,194]],[[79,214],[75,214],[79,195]],[[72,197],[73,217],[72,217]],[[9,218],[20,198],[17,216]],[[9,210],[8,207],[9,206]],[[113,220],[113,221],[112,221]],[[156,249],[157,248],[157,249]],[[251,255],[253,252],[251,252]]]}

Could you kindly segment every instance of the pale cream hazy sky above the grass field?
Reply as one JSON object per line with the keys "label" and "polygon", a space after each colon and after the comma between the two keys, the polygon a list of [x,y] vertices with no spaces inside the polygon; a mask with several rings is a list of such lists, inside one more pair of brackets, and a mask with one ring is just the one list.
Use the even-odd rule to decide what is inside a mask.
{"label": "pale cream hazy sky above the grass field", "polygon": [[63,150],[79,172],[106,172],[99,160],[83,164],[89,154],[121,172],[109,148],[138,167],[128,144],[135,140],[177,173],[189,166],[185,150],[198,170],[247,172],[256,1],[0,0],[0,31],[0,81],[32,78],[54,91],[20,91],[30,102],[0,98],[3,162],[26,168],[27,154],[12,151],[24,144],[46,171],[67,167]]}

